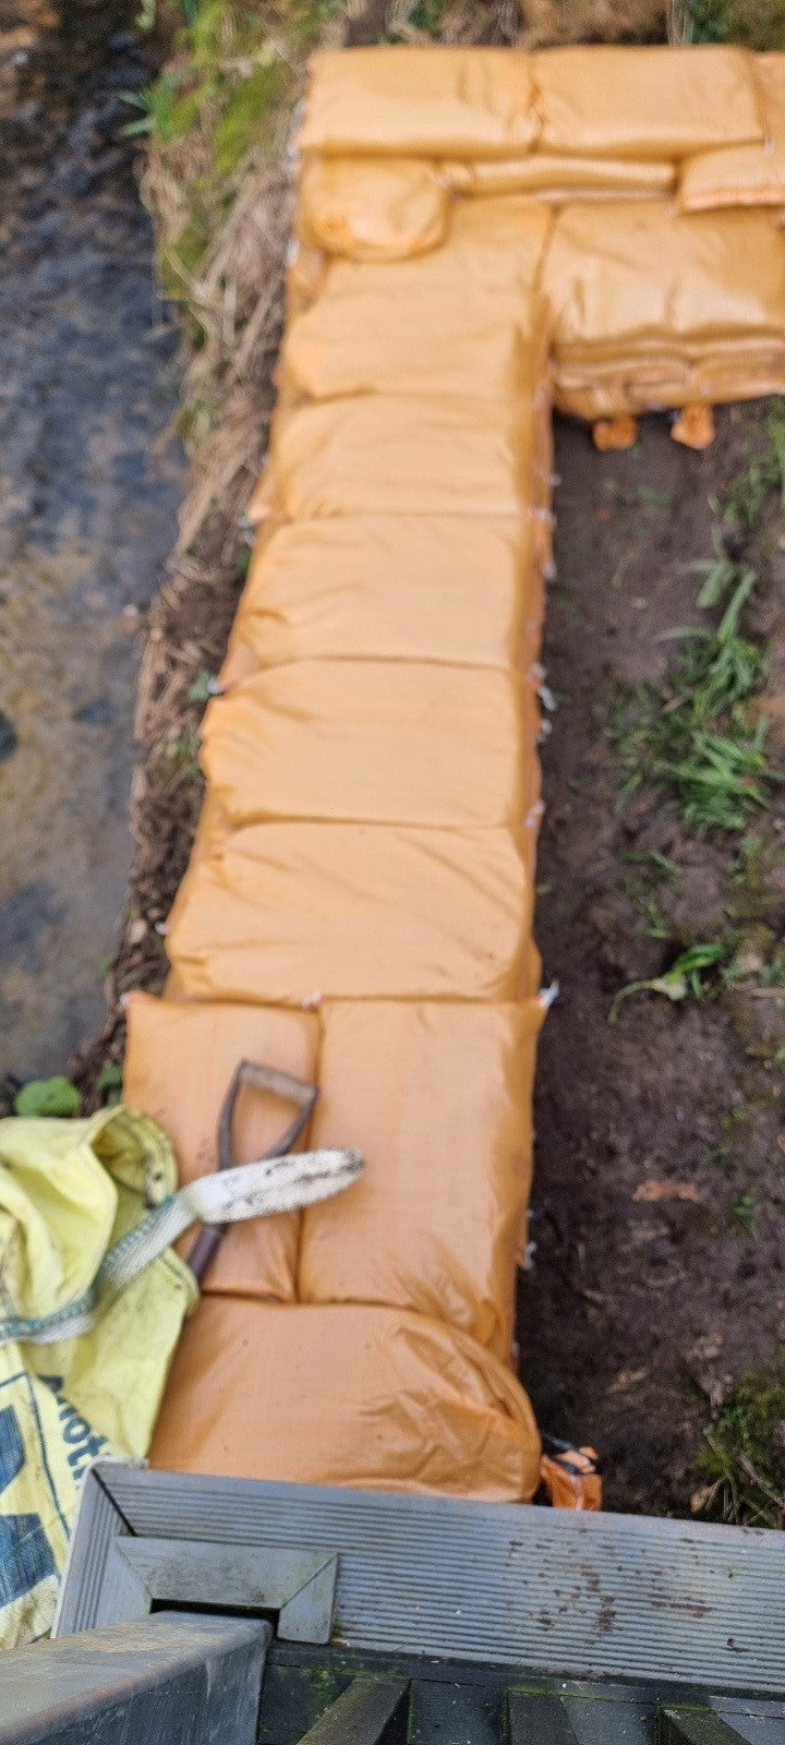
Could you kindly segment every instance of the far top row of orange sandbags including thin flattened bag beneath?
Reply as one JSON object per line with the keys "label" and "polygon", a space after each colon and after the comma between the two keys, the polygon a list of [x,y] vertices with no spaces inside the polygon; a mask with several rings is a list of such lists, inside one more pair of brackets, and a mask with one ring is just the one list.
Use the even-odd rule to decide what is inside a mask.
{"label": "far top row of orange sandbags including thin flattened bag beneath", "polygon": [[317,58],[305,154],[434,159],[469,192],[785,204],[785,56],[736,47]]}

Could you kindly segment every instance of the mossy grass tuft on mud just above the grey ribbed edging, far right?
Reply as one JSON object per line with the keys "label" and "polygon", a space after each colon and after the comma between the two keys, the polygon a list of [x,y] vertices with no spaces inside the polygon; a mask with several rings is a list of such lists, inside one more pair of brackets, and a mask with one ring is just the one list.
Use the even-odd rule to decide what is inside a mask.
{"label": "mossy grass tuft on mud just above the grey ribbed edging, far right", "polygon": [[705,1433],[693,1509],[710,1520],[785,1527],[785,1379],[748,1372]]}

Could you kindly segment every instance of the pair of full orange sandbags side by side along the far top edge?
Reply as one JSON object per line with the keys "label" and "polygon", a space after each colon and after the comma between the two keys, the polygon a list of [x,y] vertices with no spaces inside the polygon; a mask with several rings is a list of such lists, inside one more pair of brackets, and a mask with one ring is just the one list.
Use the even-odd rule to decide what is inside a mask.
{"label": "pair of full orange sandbags side by side along the far top edge", "polygon": [[323,155],[502,159],[537,147],[680,159],[762,138],[743,49],[380,47],[314,58],[300,145]]}

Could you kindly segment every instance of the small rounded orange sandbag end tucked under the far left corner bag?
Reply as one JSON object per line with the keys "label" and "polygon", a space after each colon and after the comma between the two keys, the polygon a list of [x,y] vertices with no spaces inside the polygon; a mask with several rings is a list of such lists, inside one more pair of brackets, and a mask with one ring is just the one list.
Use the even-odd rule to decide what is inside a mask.
{"label": "small rounded orange sandbag end tucked under the far left corner bag", "polygon": [[447,236],[450,195],[415,159],[307,157],[297,230],[309,248],[349,260],[406,260]]}

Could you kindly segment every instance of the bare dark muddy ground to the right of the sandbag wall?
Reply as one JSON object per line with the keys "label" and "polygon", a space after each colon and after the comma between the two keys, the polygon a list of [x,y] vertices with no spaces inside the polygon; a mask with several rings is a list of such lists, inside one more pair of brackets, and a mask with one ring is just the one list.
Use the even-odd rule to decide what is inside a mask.
{"label": "bare dark muddy ground to the right of the sandbag wall", "polygon": [[[712,1410],[747,1368],[785,1354],[785,989],[750,982],[684,1005],[644,995],[609,1024],[614,993],[684,946],[761,921],[782,937],[785,923],[783,790],[754,827],[766,879],[754,857],[740,885],[738,838],[696,838],[645,789],[619,810],[609,736],[619,689],[658,682],[673,654],[663,633],[701,616],[689,565],[712,551],[708,497],[766,447],[759,407],[717,424],[705,454],[656,419],[616,455],[556,429],[544,661],[558,708],[543,747],[537,939],[562,995],[539,1050],[536,1255],[520,1284],[522,1375],[543,1427],[595,1443],[607,1508],[675,1515],[700,1483]],[[783,548],[769,506],[745,555],[761,569],[748,628],[775,640],[773,679]],[[635,859],[652,850],[679,874],[652,878]],[[694,1199],[635,1197],[663,1180]]]}

